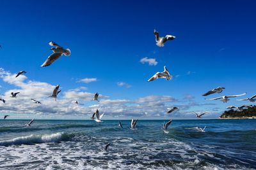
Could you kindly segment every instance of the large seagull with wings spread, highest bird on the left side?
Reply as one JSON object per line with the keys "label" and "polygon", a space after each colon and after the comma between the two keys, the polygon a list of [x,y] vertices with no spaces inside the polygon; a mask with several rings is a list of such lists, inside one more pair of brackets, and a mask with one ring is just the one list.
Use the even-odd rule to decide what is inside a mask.
{"label": "large seagull with wings spread, highest bird on the left side", "polygon": [[60,58],[61,55],[69,56],[71,54],[71,51],[67,48],[63,48],[62,46],[54,43],[53,41],[49,42],[49,45],[54,46],[51,48],[52,54],[45,60],[44,64],[42,64],[41,67],[50,66],[52,62],[56,61]]}

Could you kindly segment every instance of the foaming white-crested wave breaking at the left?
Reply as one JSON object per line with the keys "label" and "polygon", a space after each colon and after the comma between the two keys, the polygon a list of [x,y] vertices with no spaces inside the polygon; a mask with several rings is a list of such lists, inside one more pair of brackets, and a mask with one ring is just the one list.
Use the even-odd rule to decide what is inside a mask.
{"label": "foaming white-crested wave breaking at the left", "polygon": [[36,143],[54,143],[59,141],[65,141],[72,138],[73,134],[67,134],[63,132],[57,132],[53,134],[31,134],[29,136],[20,136],[10,140],[0,141],[0,146],[10,145],[33,145]]}

